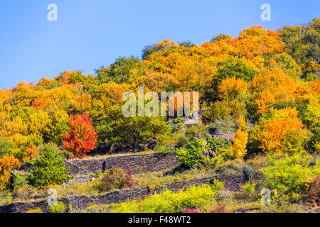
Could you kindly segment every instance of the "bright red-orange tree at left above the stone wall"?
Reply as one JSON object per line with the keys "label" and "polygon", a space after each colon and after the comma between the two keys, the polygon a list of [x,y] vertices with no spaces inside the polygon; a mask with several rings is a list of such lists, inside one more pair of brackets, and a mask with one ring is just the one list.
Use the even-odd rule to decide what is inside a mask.
{"label": "bright red-orange tree at left above the stone wall", "polygon": [[63,147],[72,152],[75,157],[83,157],[86,153],[96,148],[97,133],[92,126],[89,114],[69,117],[70,131],[63,134]]}

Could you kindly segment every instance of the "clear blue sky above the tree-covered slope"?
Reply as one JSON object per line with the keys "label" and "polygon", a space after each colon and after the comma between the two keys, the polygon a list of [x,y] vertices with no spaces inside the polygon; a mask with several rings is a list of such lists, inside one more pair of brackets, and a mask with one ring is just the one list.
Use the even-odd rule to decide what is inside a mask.
{"label": "clear blue sky above the tree-covered slope", "polygon": [[[48,21],[48,4],[58,21]],[[272,21],[261,21],[270,4]],[[318,0],[1,0],[0,89],[53,78],[63,70],[94,72],[119,56],[141,56],[169,38],[201,44],[218,33],[238,36],[260,24],[277,29],[319,15]]]}

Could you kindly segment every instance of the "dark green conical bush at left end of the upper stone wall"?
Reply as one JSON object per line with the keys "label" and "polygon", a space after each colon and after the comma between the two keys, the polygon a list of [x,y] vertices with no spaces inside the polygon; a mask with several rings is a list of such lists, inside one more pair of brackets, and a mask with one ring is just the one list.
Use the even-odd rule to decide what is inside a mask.
{"label": "dark green conical bush at left end of the upper stone wall", "polygon": [[43,154],[34,162],[28,182],[34,187],[62,184],[73,178],[67,175],[68,170],[58,150],[46,145]]}

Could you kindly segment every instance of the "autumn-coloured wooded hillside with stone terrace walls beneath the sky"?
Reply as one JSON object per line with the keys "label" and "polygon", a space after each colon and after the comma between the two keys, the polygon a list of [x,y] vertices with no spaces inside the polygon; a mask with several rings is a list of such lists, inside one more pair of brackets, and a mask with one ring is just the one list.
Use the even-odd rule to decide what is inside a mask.
{"label": "autumn-coloured wooded hillside with stone terrace walls beneath the sky", "polygon": [[[0,89],[0,211],[319,212],[319,43],[319,18],[252,26]],[[187,124],[178,104],[174,116],[124,116],[123,94],[141,86],[144,107],[198,92],[201,118]],[[46,204],[48,189],[62,204]]]}

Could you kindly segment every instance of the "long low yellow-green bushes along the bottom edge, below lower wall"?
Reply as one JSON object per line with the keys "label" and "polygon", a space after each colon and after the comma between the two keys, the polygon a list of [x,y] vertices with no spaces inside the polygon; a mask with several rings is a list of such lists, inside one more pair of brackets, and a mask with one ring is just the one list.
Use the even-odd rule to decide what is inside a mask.
{"label": "long low yellow-green bushes along the bottom edge, below lower wall", "polygon": [[187,208],[203,208],[215,201],[217,189],[208,184],[191,186],[186,190],[171,192],[165,189],[160,194],[143,199],[142,201],[126,201],[122,204],[112,204],[112,213],[179,213]]}

